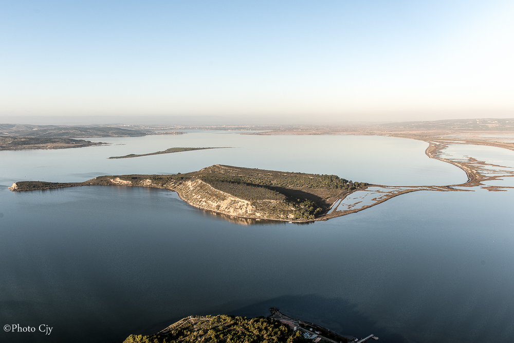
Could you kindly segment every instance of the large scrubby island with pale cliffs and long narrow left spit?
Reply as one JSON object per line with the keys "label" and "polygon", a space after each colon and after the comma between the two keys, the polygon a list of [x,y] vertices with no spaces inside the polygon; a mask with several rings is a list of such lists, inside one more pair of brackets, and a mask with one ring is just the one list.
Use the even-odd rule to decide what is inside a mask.
{"label": "large scrubby island with pale cliffs and long narrow left spit", "polygon": [[176,175],[107,175],[82,183],[17,182],[12,191],[89,185],[166,188],[203,209],[255,219],[314,220],[342,195],[368,184],[336,175],[214,165]]}

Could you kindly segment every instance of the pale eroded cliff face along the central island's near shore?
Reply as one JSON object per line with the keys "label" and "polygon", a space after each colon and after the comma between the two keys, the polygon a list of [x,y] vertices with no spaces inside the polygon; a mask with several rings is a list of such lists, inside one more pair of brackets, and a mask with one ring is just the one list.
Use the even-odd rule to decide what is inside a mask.
{"label": "pale eroded cliff face along the central island's near shore", "polygon": [[169,182],[158,185],[151,179],[138,182],[119,177],[109,179],[111,184],[123,186],[158,187],[174,190],[183,201],[192,206],[227,215],[260,219],[292,220],[297,209],[285,202],[274,200],[248,201],[215,189],[200,179],[184,182]]}

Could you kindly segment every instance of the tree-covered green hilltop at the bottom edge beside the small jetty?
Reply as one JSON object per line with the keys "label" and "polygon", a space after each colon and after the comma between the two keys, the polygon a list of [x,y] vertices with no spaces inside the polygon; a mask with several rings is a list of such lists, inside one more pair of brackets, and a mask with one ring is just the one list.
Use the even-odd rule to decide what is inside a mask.
{"label": "tree-covered green hilltop at the bottom edge beside the small jetty", "polygon": [[[124,343],[300,343],[308,340],[271,318],[191,316],[155,335],[130,335]],[[312,341],[312,340],[310,340]]]}

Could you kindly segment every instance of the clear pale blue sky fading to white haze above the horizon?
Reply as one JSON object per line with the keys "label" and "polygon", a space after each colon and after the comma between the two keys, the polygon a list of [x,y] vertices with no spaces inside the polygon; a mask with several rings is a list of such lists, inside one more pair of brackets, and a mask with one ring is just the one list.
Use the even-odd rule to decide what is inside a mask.
{"label": "clear pale blue sky fading to white haze above the horizon", "polygon": [[0,0],[0,119],[514,117],[510,1]]}

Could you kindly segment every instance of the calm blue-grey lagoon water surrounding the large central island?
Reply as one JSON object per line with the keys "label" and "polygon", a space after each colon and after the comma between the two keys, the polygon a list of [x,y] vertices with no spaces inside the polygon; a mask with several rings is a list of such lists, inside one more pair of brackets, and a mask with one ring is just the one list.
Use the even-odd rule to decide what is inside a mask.
{"label": "calm blue-grey lagoon water surrounding the large central island", "polygon": [[[383,342],[514,339],[512,191],[420,191],[327,222],[243,225],[166,190],[7,189],[213,164],[383,185],[465,182],[429,159],[425,142],[233,132],[91,140],[113,145],[0,152],[1,324],[53,327],[2,331],[0,341],[121,342],[189,315],[268,315],[271,306]],[[171,147],[233,148],[107,159]],[[499,148],[458,149],[514,161]]]}

